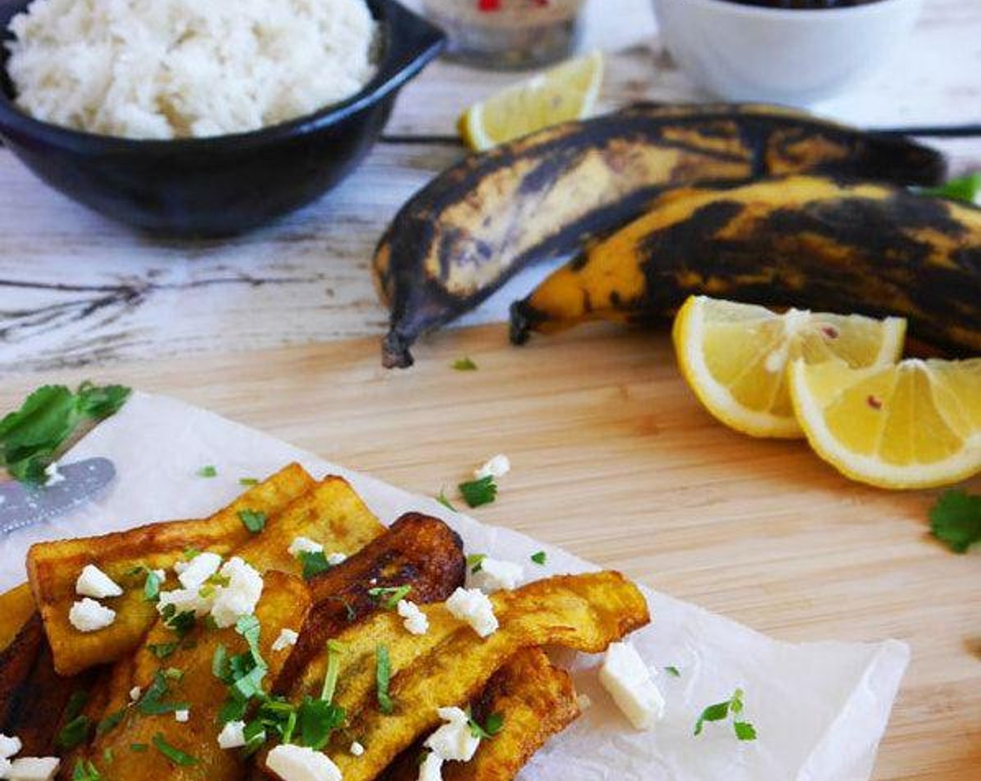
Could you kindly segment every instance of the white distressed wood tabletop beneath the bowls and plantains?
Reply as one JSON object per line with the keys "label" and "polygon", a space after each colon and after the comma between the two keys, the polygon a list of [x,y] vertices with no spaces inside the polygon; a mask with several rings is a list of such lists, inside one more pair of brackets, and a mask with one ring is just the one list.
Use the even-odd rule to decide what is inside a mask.
{"label": "white distressed wood tabletop beneath the bowls and plantains", "polygon": [[[592,0],[588,14],[584,45],[609,55],[602,108],[703,97],[663,49],[647,0]],[[926,0],[887,70],[816,108],[865,127],[976,123],[979,74],[981,0]],[[452,135],[460,110],[514,78],[435,64],[336,191],[231,241],[135,234],[50,191],[0,149],[0,372],[382,333],[386,312],[368,271],[378,236],[405,198],[463,154]],[[981,168],[981,138],[936,144],[955,172]],[[515,294],[512,285],[469,321],[499,318]]]}

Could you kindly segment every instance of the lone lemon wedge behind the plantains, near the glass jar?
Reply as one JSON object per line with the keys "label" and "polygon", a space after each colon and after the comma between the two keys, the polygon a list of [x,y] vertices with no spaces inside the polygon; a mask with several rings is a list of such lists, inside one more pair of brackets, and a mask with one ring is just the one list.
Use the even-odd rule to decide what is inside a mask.
{"label": "lone lemon wedge behind the plantains, near the glass jar", "polygon": [[603,55],[569,60],[475,103],[460,117],[460,136],[484,151],[542,128],[593,114],[603,80]]}

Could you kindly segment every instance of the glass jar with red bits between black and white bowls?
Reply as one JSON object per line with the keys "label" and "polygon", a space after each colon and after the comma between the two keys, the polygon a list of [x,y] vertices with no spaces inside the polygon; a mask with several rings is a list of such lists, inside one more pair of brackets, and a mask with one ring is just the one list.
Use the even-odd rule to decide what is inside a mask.
{"label": "glass jar with red bits between black and white bowls", "polygon": [[449,34],[448,56],[501,70],[536,68],[576,47],[585,0],[423,0]]}

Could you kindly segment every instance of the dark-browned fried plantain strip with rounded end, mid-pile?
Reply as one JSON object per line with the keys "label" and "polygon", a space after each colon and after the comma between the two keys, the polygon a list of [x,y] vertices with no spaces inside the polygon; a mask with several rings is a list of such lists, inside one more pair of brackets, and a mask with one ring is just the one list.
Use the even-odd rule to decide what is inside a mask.
{"label": "dark-browned fried plantain strip with rounded end, mid-pile", "polygon": [[294,688],[330,638],[378,608],[373,588],[409,585],[407,599],[441,602],[463,585],[465,575],[463,542],[455,531],[430,516],[403,515],[385,535],[311,582],[314,607],[277,691]]}

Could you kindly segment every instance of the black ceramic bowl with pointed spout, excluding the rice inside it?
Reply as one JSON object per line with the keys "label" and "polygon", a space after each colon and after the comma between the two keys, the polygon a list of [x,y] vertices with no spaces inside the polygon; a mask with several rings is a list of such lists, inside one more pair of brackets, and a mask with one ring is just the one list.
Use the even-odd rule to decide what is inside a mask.
{"label": "black ceramic bowl with pointed spout, excluding the rice inside it", "polygon": [[[0,29],[26,2],[0,2]],[[353,97],[251,133],[133,140],[61,128],[13,102],[0,55],[0,138],[38,177],[114,220],[172,235],[255,227],[322,195],[381,134],[398,89],[442,49],[442,31],[393,0],[368,0],[379,21],[379,68]],[[6,33],[4,38],[10,39]]]}

